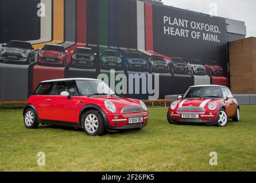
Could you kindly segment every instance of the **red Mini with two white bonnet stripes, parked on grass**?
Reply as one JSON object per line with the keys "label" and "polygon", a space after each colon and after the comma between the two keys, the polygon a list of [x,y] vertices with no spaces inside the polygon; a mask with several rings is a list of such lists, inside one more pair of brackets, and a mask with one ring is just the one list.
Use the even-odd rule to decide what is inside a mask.
{"label": "red Mini with two white bonnet stripes, parked on grass", "polygon": [[240,120],[240,110],[228,87],[191,86],[170,105],[167,119],[170,124],[226,126],[230,119]]}

